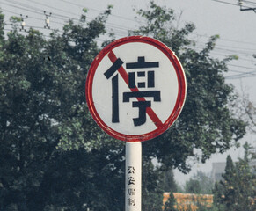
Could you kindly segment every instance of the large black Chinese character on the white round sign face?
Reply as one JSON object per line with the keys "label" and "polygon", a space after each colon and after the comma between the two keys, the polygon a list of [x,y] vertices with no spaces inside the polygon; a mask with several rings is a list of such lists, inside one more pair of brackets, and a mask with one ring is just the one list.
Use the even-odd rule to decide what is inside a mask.
{"label": "large black Chinese character on the white round sign face", "polygon": [[[107,79],[112,77],[112,122],[118,123],[119,120],[119,85],[118,85],[118,69],[121,68],[123,62],[118,58],[113,65],[106,70],[104,75]],[[158,68],[159,62],[145,62],[144,56],[139,56],[137,62],[126,63],[126,69],[150,69]],[[116,74],[115,74],[116,73]],[[136,73],[136,74],[135,74]],[[115,75],[114,75],[115,74]],[[132,103],[133,107],[138,108],[138,117],[134,118],[134,125],[141,126],[146,122],[147,108],[151,107],[151,101],[144,98],[153,98],[155,102],[161,101],[160,91],[138,91],[137,88],[154,88],[155,87],[155,72],[147,71],[147,79],[145,82],[136,83],[135,76],[146,77],[145,71],[128,72],[128,87],[130,92],[123,92],[123,102],[129,102],[130,98],[137,98],[137,101]],[[147,85],[146,85],[147,84]],[[135,89],[135,90],[133,90]]]}

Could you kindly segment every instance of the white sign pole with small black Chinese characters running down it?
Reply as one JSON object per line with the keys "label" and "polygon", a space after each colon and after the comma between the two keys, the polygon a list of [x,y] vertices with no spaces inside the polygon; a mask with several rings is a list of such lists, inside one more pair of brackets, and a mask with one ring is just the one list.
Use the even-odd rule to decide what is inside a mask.
{"label": "white sign pole with small black Chinese characters running down it", "polygon": [[125,211],[142,210],[142,142],[126,142]]}

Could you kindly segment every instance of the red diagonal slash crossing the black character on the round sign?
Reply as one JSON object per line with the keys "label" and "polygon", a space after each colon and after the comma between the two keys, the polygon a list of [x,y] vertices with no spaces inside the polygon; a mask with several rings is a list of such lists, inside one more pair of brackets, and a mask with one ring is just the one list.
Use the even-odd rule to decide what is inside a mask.
{"label": "red diagonal slash crossing the black character on the round sign", "polygon": [[[108,58],[111,62],[115,62],[117,60],[116,56],[113,54],[113,51],[110,51],[108,54]],[[122,79],[125,81],[125,83],[128,85],[128,74],[125,69],[121,66],[118,69],[118,72],[120,73]],[[130,88],[131,91],[139,91],[137,87]],[[138,101],[146,101],[145,98],[137,98]],[[162,121],[157,117],[157,114],[152,110],[151,107],[147,107],[146,113],[150,116],[150,119],[154,122],[156,127],[162,127],[163,123]]]}

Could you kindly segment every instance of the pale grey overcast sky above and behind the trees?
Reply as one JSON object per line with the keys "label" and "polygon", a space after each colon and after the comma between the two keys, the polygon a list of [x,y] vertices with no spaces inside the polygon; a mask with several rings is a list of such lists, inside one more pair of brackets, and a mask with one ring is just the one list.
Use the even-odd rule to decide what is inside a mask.
{"label": "pale grey overcast sky above and behind the trees", "polygon": [[[71,3],[72,2],[72,3]],[[256,8],[256,0],[244,1],[245,8]],[[213,56],[223,58],[226,55],[238,55],[238,61],[230,62],[230,72],[226,74],[227,83],[233,84],[238,93],[241,89],[249,94],[256,104],[256,13],[254,11],[240,11],[238,0],[157,0],[155,3],[166,5],[180,15],[179,25],[193,22],[196,30],[191,35],[197,41],[197,47],[203,47],[209,36],[219,34],[216,50]],[[6,32],[11,29],[8,18],[11,15],[25,18],[26,25],[40,29],[46,35],[52,29],[62,30],[62,25],[69,18],[77,21],[83,7],[88,9],[88,19],[96,17],[104,11],[108,4],[113,5],[113,13],[107,22],[107,29],[116,34],[116,38],[127,36],[128,29],[135,29],[143,23],[142,18],[135,20],[135,11],[147,9],[148,0],[0,0],[0,7],[6,15]],[[44,14],[52,13],[50,29],[44,29]],[[256,10],[255,10],[256,11]],[[26,18],[28,15],[28,18]],[[247,135],[245,140],[255,144],[256,135]],[[234,159],[243,156],[242,149],[230,149],[224,155],[215,155],[207,164],[194,164],[193,171],[184,176],[175,171],[176,179],[184,184],[185,179],[197,170],[211,171],[212,162],[224,162],[227,154]]]}

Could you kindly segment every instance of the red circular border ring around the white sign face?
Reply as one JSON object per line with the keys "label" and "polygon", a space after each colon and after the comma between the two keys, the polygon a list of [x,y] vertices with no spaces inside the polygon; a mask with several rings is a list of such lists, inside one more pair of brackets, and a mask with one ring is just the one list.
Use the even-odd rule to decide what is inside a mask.
{"label": "red circular border ring around the white sign face", "polygon": [[[172,65],[176,71],[178,84],[179,84],[179,91],[178,91],[176,104],[169,118],[165,120],[165,122],[163,123],[163,126],[157,127],[157,129],[143,135],[124,135],[113,130],[111,127],[108,127],[106,123],[103,120],[101,120],[101,118],[99,117],[99,113],[97,112],[92,99],[93,77],[94,77],[95,71],[99,66],[99,62],[101,62],[101,60],[111,50],[113,50],[113,48],[119,47],[129,42],[143,42],[143,43],[150,44],[154,47],[157,47],[159,50],[161,50],[172,62]],[[99,55],[97,55],[94,61],[91,63],[91,67],[89,69],[88,76],[86,78],[86,84],[85,84],[86,102],[93,119],[97,122],[99,127],[101,127],[108,135],[111,135],[113,136],[113,138],[116,138],[125,142],[143,142],[163,134],[169,127],[172,126],[173,122],[177,120],[177,118],[179,117],[179,113],[181,112],[182,107],[184,106],[184,103],[185,103],[186,92],[187,92],[186,76],[177,56],[172,52],[172,50],[169,47],[165,46],[164,43],[158,40],[152,39],[150,37],[143,37],[143,36],[131,36],[131,37],[121,38],[120,40],[113,41],[104,49],[102,49],[99,52]]]}

